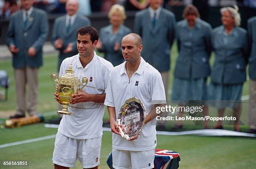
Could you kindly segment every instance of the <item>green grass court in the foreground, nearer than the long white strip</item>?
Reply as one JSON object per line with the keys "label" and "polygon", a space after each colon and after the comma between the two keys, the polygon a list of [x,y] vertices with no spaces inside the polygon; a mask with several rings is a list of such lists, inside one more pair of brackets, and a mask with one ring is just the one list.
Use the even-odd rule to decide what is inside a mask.
{"label": "green grass court in the foreground, nearer than the long white strip", "polygon": [[[33,124],[16,129],[0,129],[0,144],[56,134],[57,129]],[[3,136],[3,137],[2,137]],[[111,133],[103,132],[100,169],[107,169]],[[180,169],[254,169],[256,141],[250,138],[206,136],[157,136],[157,149],[179,152]],[[28,160],[29,169],[53,168],[54,139],[0,149],[0,160]],[[1,169],[10,169],[2,167]],[[27,167],[26,167],[27,168]],[[74,169],[81,169],[79,161]]]}

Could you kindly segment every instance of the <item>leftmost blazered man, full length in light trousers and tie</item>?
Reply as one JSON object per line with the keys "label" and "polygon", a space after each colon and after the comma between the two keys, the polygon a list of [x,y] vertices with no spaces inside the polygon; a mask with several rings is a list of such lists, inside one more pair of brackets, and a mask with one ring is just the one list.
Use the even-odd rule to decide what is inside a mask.
{"label": "leftmost blazered man, full length in light trousers and tie", "polygon": [[[16,114],[10,118],[36,114],[38,96],[38,68],[42,66],[42,46],[48,34],[47,14],[33,8],[33,0],[20,0],[23,10],[10,18],[7,45],[13,54],[16,88]],[[28,100],[26,101],[26,83]]]}

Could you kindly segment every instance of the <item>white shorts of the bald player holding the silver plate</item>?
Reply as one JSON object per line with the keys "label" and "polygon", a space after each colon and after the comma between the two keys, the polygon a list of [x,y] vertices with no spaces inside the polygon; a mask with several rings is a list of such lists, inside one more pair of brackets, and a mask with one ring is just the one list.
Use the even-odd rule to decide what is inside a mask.
{"label": "white shorts of the bald player holding the silver plate", "polygon": [[126,151],[112,149],[114,169],[152,169],[155,149],[148,151]]}

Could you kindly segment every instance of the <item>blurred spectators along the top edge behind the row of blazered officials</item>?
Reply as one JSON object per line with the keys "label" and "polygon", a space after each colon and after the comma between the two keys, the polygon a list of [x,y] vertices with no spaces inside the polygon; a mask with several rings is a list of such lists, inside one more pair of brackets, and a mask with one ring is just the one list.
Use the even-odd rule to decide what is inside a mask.
{"label": "blurred spectators along the top edge behind the row of blazered officials", "polygon": [[[65,4],[67,0],[34,0],[34,7],[45,10],[47,13],[66,13]],[[119,4],[125,7],[126,11],[143,10],[148,7],[148,0],[79,0],[79,14],[91,15],[94,12],[108,13],[111,6]],[[215,6],[246,6],[256,8],[255,0],[163,0],[162,7],[172,10],[175,6],[195,5],[200,14],[207,10],[207,7]],[[0,0],[0,18],[10,18],[21,8],[20,0]]]}

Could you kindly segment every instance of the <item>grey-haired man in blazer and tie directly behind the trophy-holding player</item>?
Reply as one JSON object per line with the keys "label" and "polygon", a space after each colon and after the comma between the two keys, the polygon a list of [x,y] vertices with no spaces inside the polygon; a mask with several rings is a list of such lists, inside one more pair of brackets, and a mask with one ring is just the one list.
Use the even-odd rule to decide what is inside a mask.
{"label": "grey-haired man in blazer and tie directly behind the trophy-holding player", "polygon": [[78,15],[78,0],[68,0],[66,3],[67,15],[54,20],[51,43],[59,50],[58,71],[65,58],[77,55],[77,30],[91,25],[89,18]]}

